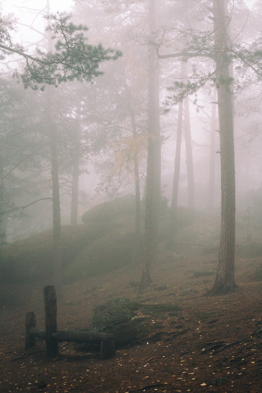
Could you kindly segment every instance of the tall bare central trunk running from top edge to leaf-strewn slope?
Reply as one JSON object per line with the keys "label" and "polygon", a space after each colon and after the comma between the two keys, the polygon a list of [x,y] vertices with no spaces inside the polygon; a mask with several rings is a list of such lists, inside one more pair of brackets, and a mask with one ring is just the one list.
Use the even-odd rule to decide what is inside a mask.
{"label": "tall bare central trunk running from top edge to leaf-strewn slope", "polygon": [[154,40],[156,36],[157,0],[150,0],[149,87],[148,87],[148,152],[145,196],[145,244],[140,290],[151,282],[151,265],[156,254],[160,210],[161,141],[159,119],[159,69]]}

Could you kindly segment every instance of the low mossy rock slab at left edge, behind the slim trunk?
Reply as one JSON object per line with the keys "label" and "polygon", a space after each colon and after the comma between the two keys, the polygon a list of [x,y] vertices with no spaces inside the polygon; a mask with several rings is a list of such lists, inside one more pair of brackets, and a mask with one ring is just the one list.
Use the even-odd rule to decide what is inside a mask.
{"label": "low mossy rock slab at left edge, behind the slim trunk", "polygon": [[[62,226],[62,269],[95,239],[108,232],[108,226]],[[1,248],[0,281],[25,283],[43,280],[53,272],[52,230],[29,236]]]}

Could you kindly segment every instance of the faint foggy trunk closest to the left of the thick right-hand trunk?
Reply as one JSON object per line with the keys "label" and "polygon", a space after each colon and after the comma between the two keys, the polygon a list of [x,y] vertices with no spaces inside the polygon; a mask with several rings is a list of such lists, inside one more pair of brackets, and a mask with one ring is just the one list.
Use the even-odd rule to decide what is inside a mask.
{"label": "faint foggy trunk closest to the left of the thick right-hand trunk", "polygon": [[213,92],[210,125],[210,154],[209,154],[209,182],[208,182],[208,209],[214,208],[214,175],[215,175],[215,123],[216,123],[216,88]]}

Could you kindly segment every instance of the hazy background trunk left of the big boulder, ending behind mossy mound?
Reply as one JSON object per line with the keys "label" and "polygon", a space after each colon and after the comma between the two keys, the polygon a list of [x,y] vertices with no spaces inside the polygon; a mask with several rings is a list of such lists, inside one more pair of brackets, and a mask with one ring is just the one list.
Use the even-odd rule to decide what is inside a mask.
{"label": "hazy background trunk left of the big boulder, ending behind mossy mound", "polygon": [[72,152],[72,196],[71,196],[71,225],[77,225],[78,215],[78,196],[79,196],[79,161],[80,161],[80,142],[81,142],[81,103],[76,108],[76,125],[74,130],[74,147]]}

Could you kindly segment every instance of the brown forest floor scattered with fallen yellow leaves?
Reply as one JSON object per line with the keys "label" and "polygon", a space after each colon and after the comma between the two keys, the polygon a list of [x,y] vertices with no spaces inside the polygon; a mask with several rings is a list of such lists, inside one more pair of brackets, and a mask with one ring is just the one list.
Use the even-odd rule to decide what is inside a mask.
{"label": "brown forest floor scattered with fallen yellow leaves", "polygon": [[[202,240],[210,236],[207,227],[205,231]],[[55,359],[47,358],[43,341],[25,350],[26,312],[34,311],[37,327],[44,328],[43,288],[19,288],[21,296],[27,299],[30,293],[31,300],[0,314],[0,392],[262,392],[262,283],[252,279],[261,258],[237,256],[239,290],[205,296],[214,283],[217,250],[203,253],[203,241],[190,240],[177,238],[181,260],[168,258],[165,247],[160,250],[152,267],[153,284],[143,294],[132,284],[140,279],[140,265],[63,287],[57,304],[59,330],[86,328],[95,306],[120,296],[182,308],[161,320],[157,334],[117,349],[112,359],[101,360],[98,352],[76,350],[72,343],[60,343]],[[214,274],[199,276],[199,269]],[[152,318],[150,323],[156,322]]]}

